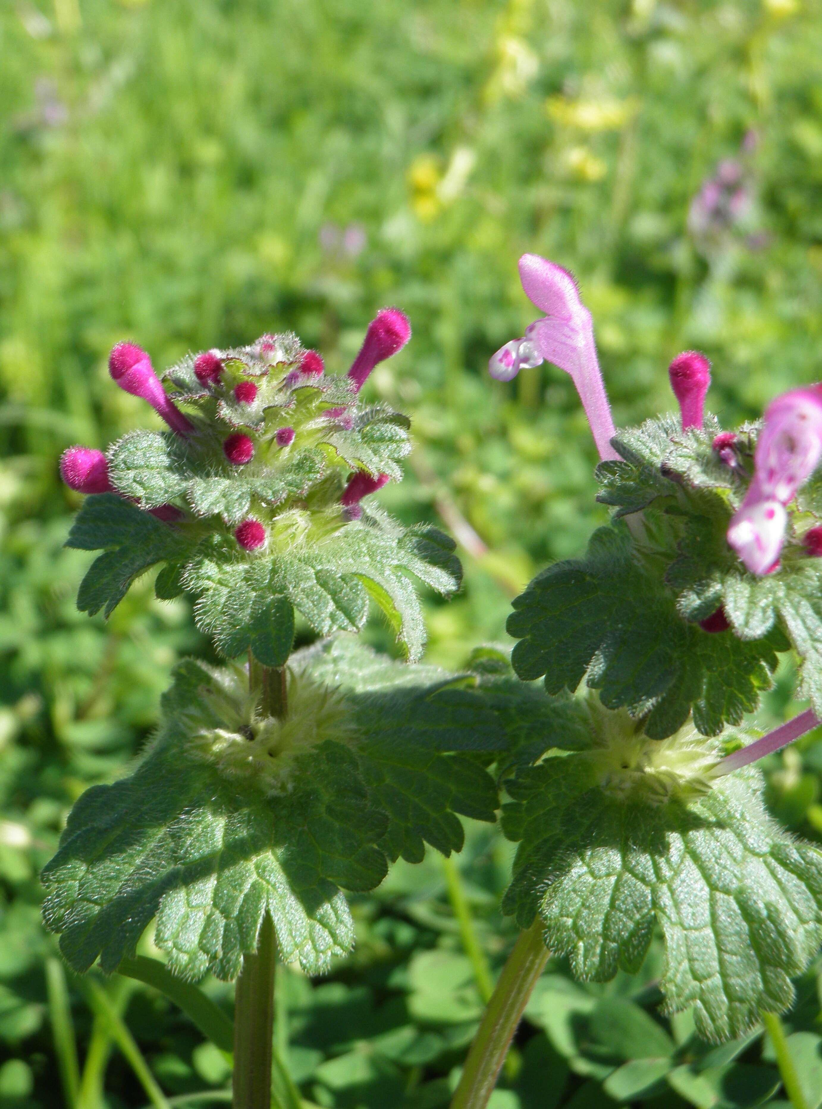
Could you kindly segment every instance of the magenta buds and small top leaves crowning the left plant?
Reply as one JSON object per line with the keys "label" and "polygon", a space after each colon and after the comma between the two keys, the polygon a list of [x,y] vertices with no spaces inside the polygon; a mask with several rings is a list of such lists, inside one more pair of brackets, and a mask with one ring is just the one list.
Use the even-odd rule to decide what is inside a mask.
{"label": "magenta buds and small top leaves crowning the left plant", "polygon": [[[326,458],[336,455],[343,467],[354,469],[342,491],[334,490],[332,498],[339,505],[342,523],[358,518],[359,501],[398,475],[372,472],[366,461],[354,457],[356,451],[335,450],[334,436],[355,430],[361,415],[357,393],[373,368],[396,354],[409,337],[406,316],[396,308],[384,309],[369,325],[363,347],[343,380],[327,377],[322,357],[314,350],[303,350],[293,335],[263,335],[247,347],[189,356],[170,369],[162,381],[143,349],[132,343],[119,343],[109,357],[109,369],[120,388],[146,400],[184,441],[184,447],[180,445],[180,458],[185,455],[190,461],[202,462],[206,472],[200,475],[201,479],[207,479],[210,474],[230,481],[232,471],[241,467],[250,468],[246,479],[248,472],[271,474],[282,469],[301,448],[327,446]],[[190,415],[184,415],[180,405]],[[151,489],[134,489],[128,477],[119,485],[118,448],[114,445],[106,458],[100,450],[70,447],[60,464],[63,480],[79,492],[115,492],[131,498],[169,523],[211,515],[207,511],[211,506],[206,505],[204,510],[195,495],[177,497],[174,503],[156,505],[152,503]],[[346,455],[351,455],[351,460]],[[182,469],[182,464],[177,468]],[[196,468],[196,461],[192,468]],[[223,511],[226,522],[233,525],[237,545],[245,551],[266,543],[266,522],[284,500],[278,494],[266,497],[264,480],[256,485],[256,516],[233,519],[236,513],[231,508]],[[261,518],[266,515],[268,521]]]}

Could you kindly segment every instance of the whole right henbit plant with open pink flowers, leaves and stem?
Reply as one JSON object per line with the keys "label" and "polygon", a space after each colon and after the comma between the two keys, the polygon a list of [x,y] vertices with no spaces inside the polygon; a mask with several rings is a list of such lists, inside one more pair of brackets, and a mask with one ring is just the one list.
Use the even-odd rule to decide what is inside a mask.
{"label": "whole right henbit plant with open pink flowers, leaves and stem", "polygon": [[[549,952],[602,981],[638,970],[659,927],[666,1009],[692,1007],[697,1032],[723,1040],[762,1015],[778,1028],[822,939],[822,855],[768,813],[754,765],[822,719],[822,389],[724,431],[703,414],[708,360],[686,352],[670,366],[680,416],[615,433],[576,283],[536,255],[520,275],[547,315],[490,372],[509,380],[546,358],[571,375],[615,511],[508,620],[514,670],[544,676],[544,718],[566,722],[501,763],[503,830],[519,844],[505,907],[524,930],[451,1109],[487,1103]],[[811,709],[752,739],[738,725],[789,650]]]}

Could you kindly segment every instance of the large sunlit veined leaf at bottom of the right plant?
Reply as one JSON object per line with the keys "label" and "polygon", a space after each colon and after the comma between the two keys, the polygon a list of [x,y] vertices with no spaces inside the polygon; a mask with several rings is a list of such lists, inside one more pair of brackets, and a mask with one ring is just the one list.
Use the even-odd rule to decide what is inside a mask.
{"label": "large sunlit veined leaf at bottom of the right plant", "polygon": [[792,1004],[822,939],[822,855],[769,816],[758,771],[659,808],[606,795],[585,755],[507,784],[503,827],[520,845],[505,907],[522,925],[539,912],[577,977],[636,971],[656,923],[666,1008],[693,1006],[700,1036],[741,1036]]}

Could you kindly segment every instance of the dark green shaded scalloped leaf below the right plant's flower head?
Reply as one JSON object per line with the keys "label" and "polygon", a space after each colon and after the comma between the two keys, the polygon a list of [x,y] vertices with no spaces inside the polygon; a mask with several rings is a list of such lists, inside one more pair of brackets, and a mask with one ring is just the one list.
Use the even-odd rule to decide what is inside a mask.
{"label": "dark green shaded scalloped leaf below the right plant's flower head", "polygon": [[539,573],[514,601],[511,661],[528,681],[545,674],[549,693],[582,678],[610,709],[648,715],[654,739],[673,734],[693,711],[718,734],[755,709],[772,685],[783,637],[742,641],[686,622],[673,594],[632,560],[623,525],[600,528],[583,559]]}

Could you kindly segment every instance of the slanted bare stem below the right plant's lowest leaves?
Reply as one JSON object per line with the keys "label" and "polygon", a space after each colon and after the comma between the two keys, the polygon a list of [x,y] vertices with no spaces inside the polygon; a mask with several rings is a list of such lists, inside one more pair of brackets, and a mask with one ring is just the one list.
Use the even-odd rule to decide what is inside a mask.
{"label": "slanted bare stem below the right plant's lowest leaves", "polygon": [[539,917],[519,934],[474,1037],[450,1109],[485,1109],[522,1011],[548,960]]}

